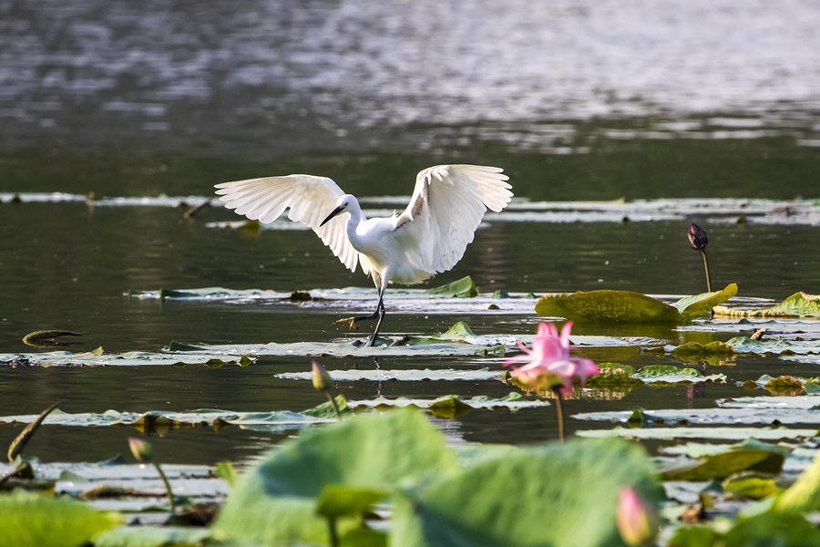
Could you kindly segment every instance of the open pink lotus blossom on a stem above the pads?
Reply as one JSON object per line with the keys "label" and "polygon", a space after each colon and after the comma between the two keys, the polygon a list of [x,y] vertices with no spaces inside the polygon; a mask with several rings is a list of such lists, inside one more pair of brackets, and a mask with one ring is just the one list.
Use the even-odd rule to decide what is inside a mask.
{"label": "open pink lotus blossom on a stem above the pads", "polygon": [[587,377],[598,374],[598,366],[589,359],[569,356],[569,331],[572,322],[568,321],[561,334],[552,323],[538,325],[538,335],[532,341],[532,349],[527,349],[520,340],[518,347],[525,353],[507,359],[504,366],[514,363],[527,363],[525,366],[513,368],[512,377],[518,378],[525,384],[541,384],[546,380],[547,387],[561,386],[561,394],[572,393],[572,378],[580,377],[581,386],[585,386]]}

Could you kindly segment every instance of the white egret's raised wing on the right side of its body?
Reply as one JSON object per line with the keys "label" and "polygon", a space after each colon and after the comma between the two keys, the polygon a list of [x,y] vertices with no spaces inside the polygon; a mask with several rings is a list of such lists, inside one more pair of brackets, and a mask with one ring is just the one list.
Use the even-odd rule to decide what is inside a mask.
{"label": "white egret's raised wing on the right side of its body", "polygon": [[479,165],[439,165],[418,173],[410,204],[395,219],[396,237],[415,240],[405,244],[415,268],[437,274],[461,260],[487,209],[501,211],[512,198],[501,173]]}

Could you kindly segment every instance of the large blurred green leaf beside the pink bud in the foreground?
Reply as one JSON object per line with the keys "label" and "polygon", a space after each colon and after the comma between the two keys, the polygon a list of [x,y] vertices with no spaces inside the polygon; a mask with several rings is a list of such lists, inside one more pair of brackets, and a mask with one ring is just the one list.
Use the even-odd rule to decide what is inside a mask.
{"label": "large blurred green leaf beside the pink bud in the foreground", "polygon": [[396,501],[393,547],[619,546],[619,491],[661,499],[644,450],[616,439],[576,439],[441,476]]}

